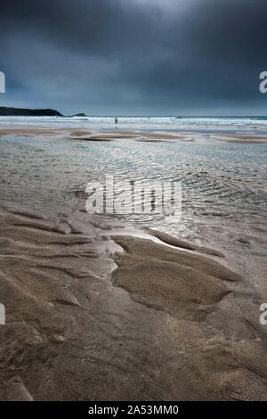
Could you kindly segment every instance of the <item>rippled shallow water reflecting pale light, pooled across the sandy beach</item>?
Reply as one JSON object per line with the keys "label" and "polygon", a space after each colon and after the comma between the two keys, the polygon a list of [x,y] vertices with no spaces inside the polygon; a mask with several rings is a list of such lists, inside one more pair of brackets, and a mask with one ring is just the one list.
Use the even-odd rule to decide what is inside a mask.
{"label": "rippled shallow water reflecting pale light, pooled across the sandy beach", "polygon": [[[4,201],[69,205],[85,185],[106,174],[117,180],[182,181],[182,222],[214,214],[240,218],[267,212],[267,144],[230,144],[208,135],[190,141],[110,143],[56,136],[0,138]],[[127,222],[174,229],[162,215],[127,215]],[[178,225],[177,225],[178,228]]]}

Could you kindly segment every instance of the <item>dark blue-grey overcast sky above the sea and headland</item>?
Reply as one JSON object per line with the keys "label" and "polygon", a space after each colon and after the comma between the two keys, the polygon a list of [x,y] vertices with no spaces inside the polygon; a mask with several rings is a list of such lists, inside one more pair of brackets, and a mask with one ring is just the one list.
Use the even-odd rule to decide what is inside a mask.
{"label": "dark blue-grey overcast sky above the sea and headland", "polygon": [[266,0],[0,0],[0,105],[267,115]]}

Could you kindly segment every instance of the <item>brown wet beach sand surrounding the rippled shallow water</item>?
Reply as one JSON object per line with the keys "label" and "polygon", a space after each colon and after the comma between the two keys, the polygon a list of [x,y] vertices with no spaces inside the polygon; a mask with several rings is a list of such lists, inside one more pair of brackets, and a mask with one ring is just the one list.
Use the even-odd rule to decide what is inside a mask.
{"label": "brown wet beach sand surrounding the rippled shallow water", "polygon": [[[23,138],[42,143],[53,136],[69,147],[204,138],[8,126],[0,136],[14,144],[20,138],[21,146]],[[264,147],[266,138],[223,134],[210,141]],[[53,159],[44,161],[50,167]],[[24,181],[42,198],[38,183]],[[19,191],[4,182],[14,199],[5,196],[0,209],[2,400],[267,399],[259,323],[267,295],[263,214],[240,220],[202,210],[198,236],[172,235],[88,214],[82,195],[66,198],[69,205],[20,203]]]}

